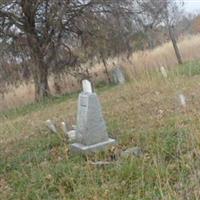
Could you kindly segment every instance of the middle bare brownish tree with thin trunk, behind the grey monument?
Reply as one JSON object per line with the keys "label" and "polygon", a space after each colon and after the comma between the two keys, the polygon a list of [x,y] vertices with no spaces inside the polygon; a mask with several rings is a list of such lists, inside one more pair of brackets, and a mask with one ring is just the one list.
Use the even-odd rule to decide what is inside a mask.
{"label": "middle bare brownish tree with thin trunk, behind the grey monument", "polygon": [[[117,2],[117,1],[116,1]],[[107,59],[120,54],[130,55],[132,52],[131,39],[133,35],[132,2],[123,1],[121,4],[113,4],[112,12],[107,12],[107,17],[101,17],[101,13],[96,13],[94,18],[88,21],[87,32],[82,35],[82,52],[84,57],[92,62],[103,63],[104,71],[108,82],[111,83]],[[108,20],[109,19],[109,20]],[[96,21],[100,20],[100,23]],[[91,37],[91,33],[95,32]]]}

